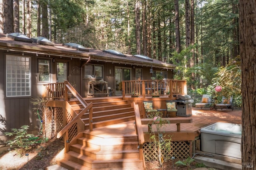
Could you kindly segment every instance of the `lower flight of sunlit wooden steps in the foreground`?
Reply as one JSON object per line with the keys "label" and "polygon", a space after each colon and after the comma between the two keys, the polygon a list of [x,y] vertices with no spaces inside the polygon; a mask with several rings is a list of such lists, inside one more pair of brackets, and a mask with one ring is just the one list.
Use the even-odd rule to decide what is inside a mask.
{"label": "lower flight of sunlit wooden steps in the foreground", "polygon": [[58,164],[68,170],[143,170],[137,135],[95,136],[83,132]]}

